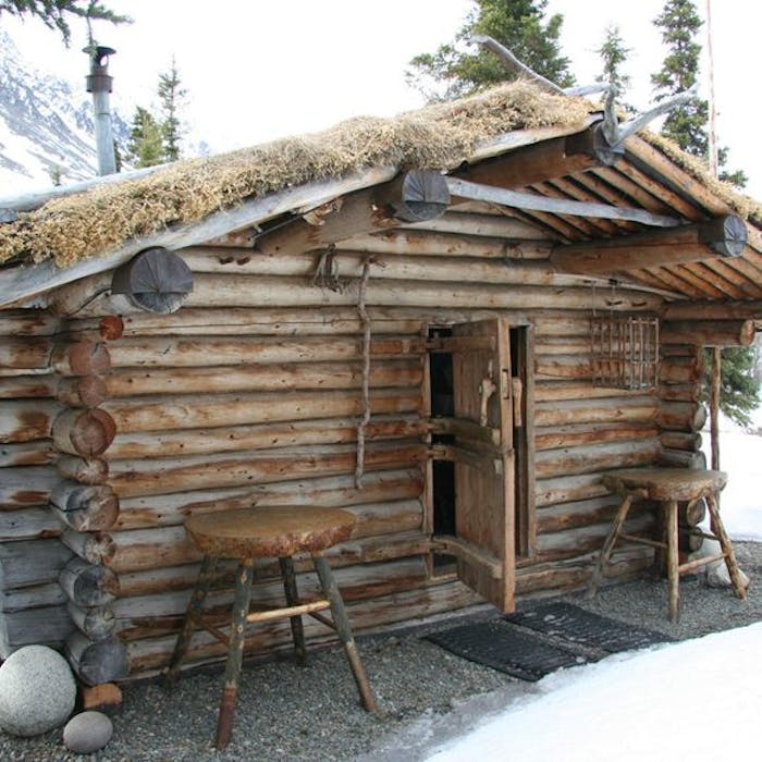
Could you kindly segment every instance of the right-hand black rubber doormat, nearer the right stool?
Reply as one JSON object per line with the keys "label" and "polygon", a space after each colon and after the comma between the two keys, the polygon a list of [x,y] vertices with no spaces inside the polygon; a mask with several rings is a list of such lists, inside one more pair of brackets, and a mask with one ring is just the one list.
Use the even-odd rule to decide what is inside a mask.
{"label": "right-hand black rubber doormat, nearer the right stool", "polygon": [[631,651],[673,640],[663,632],[600,616],[564,601],[545,603],[526,612],[508,614],[505,620],[561,638],[569,643],[601,649],[606,653]]}

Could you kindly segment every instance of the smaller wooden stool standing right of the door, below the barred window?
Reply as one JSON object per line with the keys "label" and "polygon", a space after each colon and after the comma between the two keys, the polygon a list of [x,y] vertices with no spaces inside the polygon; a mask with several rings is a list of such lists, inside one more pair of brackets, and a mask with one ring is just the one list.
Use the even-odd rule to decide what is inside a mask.
{"label": "smaller wooden stool standing right of the door, below the barred window", "polygon": [[[613,471],[603,477],[603,483],[613,492],[624,497],[622,505],[614,518],[611,531],[603,543],[603,550],[598,560],[598,565],[590,581],[589,594],[592,598],[601,579],[604,577],[605,567],[611,557],[617,540],[628,540],[641,544],[651,545],[657,550],[666,550],[667,579],[669,583],[669,620],[679,618],[680,575],[693,572],[701,566],[711,564],[721,558],[725,560],[728,574],[733,580],[736,595],[746,599],[746,590],[741,582],[736,556],[733,552],[730,539],[725,531],[717,507],[717,494],[725,487],[727,475],[723,471],[691,470],[683,468],[634,468],[622,471]],[[712,533],[705,537],[717,540],[722,553],[697,558],[685,564],[679,563],[678,532],[677,532],[677,504],[678,502],[695,502],[706,500],[711,517]],[[622,531],[627,513],[636,500],[653,500],[659,502],[664,519],[664,541],[644,537],[634,537]]]}

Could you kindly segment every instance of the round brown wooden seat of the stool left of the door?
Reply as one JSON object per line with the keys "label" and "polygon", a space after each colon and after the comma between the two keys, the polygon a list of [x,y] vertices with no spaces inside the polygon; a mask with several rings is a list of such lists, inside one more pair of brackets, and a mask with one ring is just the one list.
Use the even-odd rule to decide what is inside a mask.
{"label": "round brown wooden seat of the stool left of the door", "polygon": [[274,505],[192,516],[185,528],[206,555],[283,557],[324,550],[349,538],[354,514],[340,508]]}

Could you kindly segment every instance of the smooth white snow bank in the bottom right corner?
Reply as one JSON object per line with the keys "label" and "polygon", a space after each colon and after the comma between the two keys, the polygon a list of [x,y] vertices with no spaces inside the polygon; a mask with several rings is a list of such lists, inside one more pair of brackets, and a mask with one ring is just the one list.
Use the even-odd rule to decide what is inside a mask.
{"label": "smooth white snow bank in the bottom right corner", "polygon": [[758,623],[549,675],[539,698],[425,759],[750,759],[759,745],[761,640]]}

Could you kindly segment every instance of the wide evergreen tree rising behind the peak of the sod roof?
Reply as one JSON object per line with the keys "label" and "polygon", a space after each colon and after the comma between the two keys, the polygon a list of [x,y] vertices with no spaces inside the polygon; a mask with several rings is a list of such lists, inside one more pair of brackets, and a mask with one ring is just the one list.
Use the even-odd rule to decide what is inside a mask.
{"label": "wide evergreen tree rising behind the peak of the sod roof", "polygon": [[493,53],[467,51],[475,35],[488,35],[538,74],[562,87],[573,85],[569,61],[561,54],[563,16],[545,21],[546,5],[548,0],[476,0],[454,41],[409,62],[408,84],[429,100],[448,100],[515,78]]}

